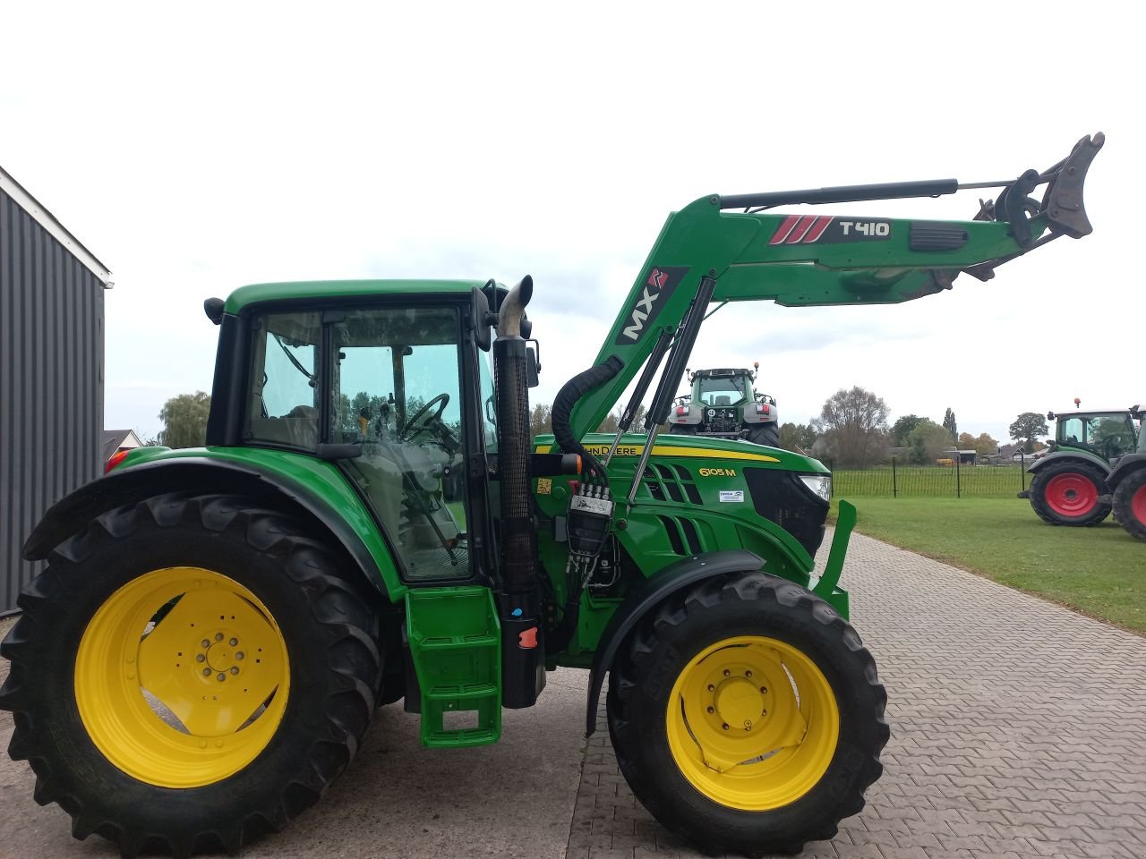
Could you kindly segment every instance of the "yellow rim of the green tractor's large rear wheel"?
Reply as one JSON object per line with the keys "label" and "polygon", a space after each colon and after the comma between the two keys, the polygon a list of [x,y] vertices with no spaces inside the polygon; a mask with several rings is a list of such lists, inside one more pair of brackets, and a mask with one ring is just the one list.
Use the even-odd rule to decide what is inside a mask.
{"label": "yellow rim of the green tractor's large rear wheel", "polygon": [[250,764],[282,720],[286,644],[266,606],[219,573],[168,567],[100,606],[76,654],[96,748],[149,785],[211,785]]}

